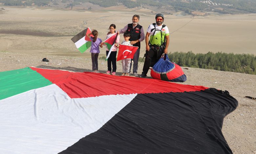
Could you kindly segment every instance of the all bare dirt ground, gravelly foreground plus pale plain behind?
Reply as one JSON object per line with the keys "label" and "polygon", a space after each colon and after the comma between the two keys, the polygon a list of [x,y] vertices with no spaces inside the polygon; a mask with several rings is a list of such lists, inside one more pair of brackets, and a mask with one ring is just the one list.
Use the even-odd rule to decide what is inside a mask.
{"label": "all bare dirt ground, gravelly foreground plus pale plain behind", "polygon": [[[139,14],[144,32],[154,22],[155,12],[133,11],[73,11],[0,6],[0,71],[24,67],[41,67],[69,71],[91,71],[89,51],[79,53],[71,38],[85,27],[97,29],[105,39],[110,24],[117,29],[131,23]],[[169,52],[192,50],[194,53],[234,52],[256,54],[256,14],[180,16],[165,15],[164,24],[170,30]],[[123,40],[122,36],[120,41]],[[140,56],[145,51],[141,44]],[[105,48],[100,50],[105,55]],[[42,62],[47,58],[50,62]],[[143,63],[139,63],[138,74]],[[256,75],[182,67],[187,81],[181,84],[201,85],[227,90],[239,102],[235,111],[224,118],[223,134],[234,154],[256,154]],[[184,69],[188,68],[188,69]],[[99,59],[99,70],[107,63]],[[121,64],[117,62],[117,75]],[[149,74],[149,73],[148,73]],[[150,77],[149,77],[150,78]]]}

